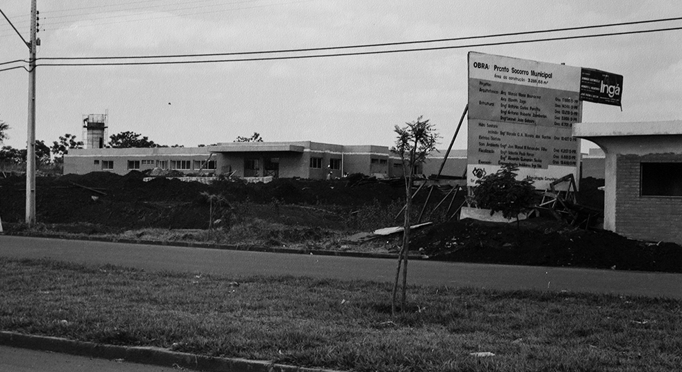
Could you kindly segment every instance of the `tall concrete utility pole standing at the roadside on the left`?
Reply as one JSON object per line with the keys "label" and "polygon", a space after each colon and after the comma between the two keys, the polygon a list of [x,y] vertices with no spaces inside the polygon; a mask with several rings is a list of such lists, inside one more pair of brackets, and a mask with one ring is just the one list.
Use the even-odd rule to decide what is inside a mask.
{"label": "tall concrete utility pole standing at the roadside on the left", "polygon": [[26,136],[26,225],[35,225],[35,47],[38,39],[38,10],[31,0],[31,41],[29,42],[29,131]]}

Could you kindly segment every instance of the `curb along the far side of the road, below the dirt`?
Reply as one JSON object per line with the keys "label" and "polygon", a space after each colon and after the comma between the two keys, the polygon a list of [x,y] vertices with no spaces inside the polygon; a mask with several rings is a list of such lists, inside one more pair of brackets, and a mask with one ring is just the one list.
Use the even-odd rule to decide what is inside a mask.
{"label": "curb along the far side of the road, below the dirt", "polygon": [[[246,252],[268,252],[268,253],[289,253],[289,254],[314,254],[318,256],[337,256],[337,257],[358,257],[358,258],[373,258],[373,259],[397,259],[398,253],[371,253],[371,252],[346,252],[341,250],[299,250],[266,247],[263,245],[231,245],[231,244],[217,244],[217,243],[195,243],[188,241],[145,241],[139,239],[116,239],[116,238],[102,238],[91,236],[64,236],[54,234],[40,234],[40,233],[17,233],[4,232],[7,236],[29,236],[33,238],[55,238],[73,241],[101,241],[106,243],[127,243],[127,244],[141,244],[141,245],[164,245],[168,247],[185,247],[185,248],[206,248],[215,250],[240,250]],[[428,259],[424,254],[409,254],[409,259]]]}

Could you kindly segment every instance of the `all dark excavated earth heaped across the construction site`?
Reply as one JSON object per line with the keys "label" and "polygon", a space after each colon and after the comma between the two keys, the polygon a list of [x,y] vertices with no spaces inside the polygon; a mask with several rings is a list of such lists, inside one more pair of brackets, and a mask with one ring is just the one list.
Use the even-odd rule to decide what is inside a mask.
{"label": "all dark excavated earth heaped across the construction site", "polygon": [[[359,232],[359,227],[366,229],[373,222],[382,222],[380,218],[364,216],[364,222],[358,223],[362,214],[359,211],[382,213],[403,203],[401,181],[352,176],[334,181],[276,179],[268,184],[229,180],[202,184],[163,177],[145,182],[145,175],[134,171],[125,176],[93,172],[38,177],[37,220],[60,232],[81,234],[120,233],[149,227],[206,229],[211,197],[219,197],[220,207],[214,205],[218,217],[229,211],[232,218],[249,214],[288,226],[271,232],[273,245],[283,240],[314,242],[325,238],[328,235],[325,232],[351,236]],[[24,177],[0,178],[0,218],[8,232],[22,229],[25,185]],[[603,186],[603,180],[580,180],[578,202],[603,210],[599,186]],[[421,207],[426,194],[418,195],[415,204]],[[432,200],[437,203],[441,198]],[[464,197],[460,194],[453,205],[458,207],[462,202]],[[380,227],[387,225],[372,228]],[[338,247],[362,252],[382,246],[390,251],[400,244],[398,235],[364,243],[339,243]],[[469,219],[436,221],[414,231],[410,246],[429,259],[448,261],[682,272],[680,245],[635,241],[601,229],[582,229],[556,220],[549,213],[518,224]]]}

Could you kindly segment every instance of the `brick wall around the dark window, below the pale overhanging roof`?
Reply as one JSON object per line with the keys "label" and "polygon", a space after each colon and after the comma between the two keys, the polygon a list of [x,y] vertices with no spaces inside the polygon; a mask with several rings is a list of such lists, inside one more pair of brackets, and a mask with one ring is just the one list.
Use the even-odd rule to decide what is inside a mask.
{"label": "brick wall around the dark window, below the pale overhanging roof", "polygon": [[682,154],[617,155],[616,232],[682,244],[682,197],[640,196],[640,163],[681,163]]}

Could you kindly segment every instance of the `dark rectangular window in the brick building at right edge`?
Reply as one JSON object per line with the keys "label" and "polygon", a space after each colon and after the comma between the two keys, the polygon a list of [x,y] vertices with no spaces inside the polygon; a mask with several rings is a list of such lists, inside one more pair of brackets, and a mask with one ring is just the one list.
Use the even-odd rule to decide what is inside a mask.
{"label": "dark rectangular window in the brick building at right edge", "polygon": [[642,196],[682,196],[682,163],[641,163]]}

